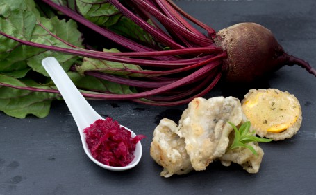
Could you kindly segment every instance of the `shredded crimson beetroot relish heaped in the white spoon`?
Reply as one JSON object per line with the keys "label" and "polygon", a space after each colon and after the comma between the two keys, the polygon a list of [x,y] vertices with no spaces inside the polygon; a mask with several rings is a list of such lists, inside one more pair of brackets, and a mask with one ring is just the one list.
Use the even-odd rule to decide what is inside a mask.
{"label": "shredded crimson beetroot relish heaped in the white spoon", "polygon": [[99,162],[113,167],[124,167],[134,158],[136,143],[143,135],[131,137],[131,132],[112,118],[97,120],[83,130],[92,156]]}

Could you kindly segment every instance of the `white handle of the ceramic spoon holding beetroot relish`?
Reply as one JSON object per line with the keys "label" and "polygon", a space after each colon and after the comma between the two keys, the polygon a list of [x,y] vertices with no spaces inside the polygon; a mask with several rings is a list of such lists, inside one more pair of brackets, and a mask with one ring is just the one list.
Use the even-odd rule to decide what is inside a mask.
{"label": "white handle of the ceramic spoon holding beetroot relish", "polygon": [[94,111],[92,106],[81,95],[67,73],[54,57],[47,57],[42,60],[42,65],[57,86],[60,94],[63,96],[74,120],[80,130],[89,127],[97,119],[102,119],[101,116]]}

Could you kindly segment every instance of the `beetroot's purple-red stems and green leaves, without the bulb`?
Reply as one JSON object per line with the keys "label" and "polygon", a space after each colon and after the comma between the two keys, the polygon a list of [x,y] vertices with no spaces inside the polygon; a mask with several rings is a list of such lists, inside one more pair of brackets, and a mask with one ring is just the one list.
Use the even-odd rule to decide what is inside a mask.
{"label": "beetroot's purple-red stems and green leaves, without the bulb", "polygon": [[87,98],[174,106],[213,89],[228,56],[213,28],[169,0],[0,5],[0,109],[17,118],[44,117],[60,98],[44,57],[56,57]]}

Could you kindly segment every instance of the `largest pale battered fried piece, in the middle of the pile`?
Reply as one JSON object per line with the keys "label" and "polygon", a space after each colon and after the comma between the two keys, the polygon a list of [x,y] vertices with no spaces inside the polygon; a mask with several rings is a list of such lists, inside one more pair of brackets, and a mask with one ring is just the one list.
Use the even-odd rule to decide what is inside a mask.
{"label": "largest pale battered fried piece, in the middle of the pile", "polygon": [[216,158],[223,156],[228,146],[230,124],[242,122],[242,108],[235,97],[198,97],[183,112],[176,134],[184,138],[192,167],[205,170]]}

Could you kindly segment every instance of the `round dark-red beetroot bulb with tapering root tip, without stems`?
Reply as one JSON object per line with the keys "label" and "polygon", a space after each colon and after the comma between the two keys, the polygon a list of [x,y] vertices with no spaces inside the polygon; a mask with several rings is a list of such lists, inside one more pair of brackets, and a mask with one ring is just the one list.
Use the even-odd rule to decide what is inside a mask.
{"label": "round dark-red beetroot bulb with tapering root tip, without stems", "polygon": [[270,30],[256,23],[240,23],[217,32],[217,46],[223,48],[226,82],[252,82],[284,65],[297,64],[316,76],[307,62],[285,53]]}

